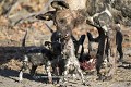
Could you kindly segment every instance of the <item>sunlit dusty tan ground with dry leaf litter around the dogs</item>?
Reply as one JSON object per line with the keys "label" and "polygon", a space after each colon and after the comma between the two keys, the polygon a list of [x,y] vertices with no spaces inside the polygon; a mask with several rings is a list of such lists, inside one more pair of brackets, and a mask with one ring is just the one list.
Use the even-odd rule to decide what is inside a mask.
{"label": "sunlit dusty tan ground with dry leaf litter around the dogs", "polygon": [[[1,0],[2,2],[4,0]],[[9,5],[12,0],[7,2]],[[21,22],[21,24],[14,26],[16,21],[21,17],[26,17],[33,12],[38,12],[43,10],[44,4],[47,0],[19,0],[20,2],[13,7],[10,11],[10,14],[5,14],[8,16],[4,17],[0,15],[0,47],[21,47],[23,36],[25,30],[28,30],[28,35],[26,38],[26,46],[40,46],[45,40],[49,40],[50,32],[47,29],[44,22],[37,22],[33,17],[26,21]],[[7,8],[4,4],[4,9]],[[1,8],[3,3],[0,3],[0,14],[2,13]],[[36,7],[37,5],[37,7]],[[12,26],[13,25],[13,26]],[[87,28],[87,30],[93,30],[92,27]],[[124,53],[124,63],[122,65],[117,64],[117,71],[114,76],[115,79],[109,82],[98,82],[96,80],[96,74],[85,75],[85,79],[91,84],[91,87],[131,87],[131,27],[123,27],[123,53]],[[81,34],[75,32],[75,34]],[[95,34],[96,35],[96,34]],[[85,42],[86,44],[86,42]],[[85,45],[86,47],[87,45]],[[44,69],[37,69],[37,76],[41,76],[41,78],[33,79],[31,78],[28,71],[24,74],[24,79],[22,83],[19,83],[19,70],[21,67],[20,54],[17,53],[13,57],[11,54],[2,55],[2,51],[0,50],[0,87],[56,87],[56,85],[46,84],[47,78],[44,78]],[[12,59],[12,60],[11,60]],[[3,62],[4,61],[4,62]],[[80,77],[79,79],[69,78],[68,87],[86,87],[81,84]]]}

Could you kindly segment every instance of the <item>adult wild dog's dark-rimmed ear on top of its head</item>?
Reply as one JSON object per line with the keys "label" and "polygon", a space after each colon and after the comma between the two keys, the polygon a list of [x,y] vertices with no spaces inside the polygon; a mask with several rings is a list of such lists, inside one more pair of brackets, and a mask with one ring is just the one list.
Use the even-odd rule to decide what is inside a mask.
{"label": "adult wild dog's dark-rimmed ear on top of its head", "polygon": [[52,1],[51,7],[56,10],[69,9],[69,4],[64,1]]}

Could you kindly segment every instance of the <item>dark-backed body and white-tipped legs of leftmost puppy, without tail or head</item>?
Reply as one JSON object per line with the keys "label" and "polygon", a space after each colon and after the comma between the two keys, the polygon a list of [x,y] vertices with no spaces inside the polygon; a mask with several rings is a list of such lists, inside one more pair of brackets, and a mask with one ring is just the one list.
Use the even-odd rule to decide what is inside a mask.
{"label": "dark-backed body and white-tipped legs of leftmost puppy, without tail or head", "polygon": [[28,63],[32,63],[31,75],[35,76],[35,70],[37,66],[46,65],[48,72],[49,82],[51,83],[51,60],[52,52],[46,48],[35,48],[28,49],[24,54],[23,66],[20,71],[20,82],[23,79],[23,72],[28,67]]}

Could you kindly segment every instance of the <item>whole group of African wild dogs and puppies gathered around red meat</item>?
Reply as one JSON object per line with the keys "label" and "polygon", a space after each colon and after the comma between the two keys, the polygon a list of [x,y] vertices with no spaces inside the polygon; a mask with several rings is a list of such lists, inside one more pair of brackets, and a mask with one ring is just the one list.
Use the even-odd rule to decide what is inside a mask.
{"label": "whole group of African wild dogs and puppies gathered around red meat", "polygon": [[[66,85],[68,74],[73,72],[81,76],[83,85],[88,85],[82,71],[92,69],[96,69],[98,80],[111,79],[116,71],[117,50],[120,55],[118,62],[123,60],[123,38],[120,26],[114,24],[108,9],[106,8],[102,12],[92,15],[83,9],[71,10],[64,1],[52,1],[51,7],[55,9],[53,11],[38,14],[36,18],[53,21],[57,29],[52,32],[51,41],[46,41],[45,46],[40,49],[32,48],[25,52],[23,66],[20,71],[20,82],[23,79],[23,72],[28,69],[28,62],[32,63],[32,76],[35,76],[37,66],[45,65],[49,83],[52,83],[53,73],[56,75],[63,75],[60,79],[63,82],[62,85]],[[87,33],[76,40],[73,37],[72,30],[83,23],[96,27],[99,36],[93,38],[93,35]],[[88,38],[88,53],[84,52],[83,42],[85,37]],[[93,49],[93,42],[98,44],[97,50]],[[108,64],[107,66],[109,67],[106,75],[100,73],[104,63]]]}

